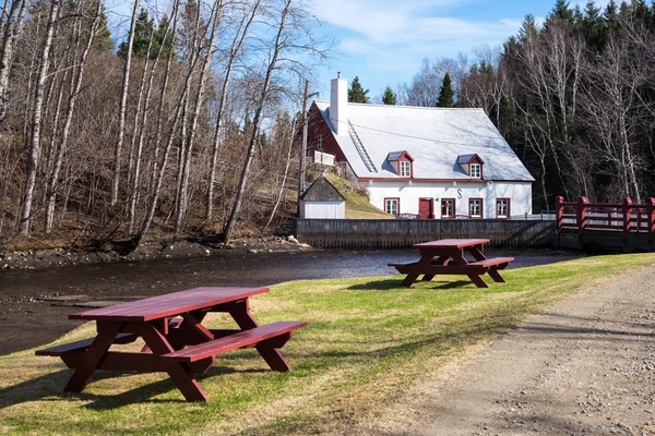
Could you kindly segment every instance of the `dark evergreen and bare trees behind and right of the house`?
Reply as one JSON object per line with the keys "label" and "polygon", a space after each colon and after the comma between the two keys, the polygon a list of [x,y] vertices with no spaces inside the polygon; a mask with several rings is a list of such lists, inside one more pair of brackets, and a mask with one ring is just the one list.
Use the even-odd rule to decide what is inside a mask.
{"label": "dark evergreen and bare trees behind and right of the house", "polygon": [[655,196],[654,33],[655,3],[557,0],[502,47],[424,60],[381,102],[484,108],[536,179],[536,211],[558,195],[643,204]]}

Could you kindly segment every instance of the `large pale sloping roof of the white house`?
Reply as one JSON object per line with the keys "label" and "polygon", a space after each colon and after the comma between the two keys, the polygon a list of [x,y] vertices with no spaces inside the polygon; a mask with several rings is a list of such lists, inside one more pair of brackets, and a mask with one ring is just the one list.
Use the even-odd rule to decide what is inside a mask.
{"label": "large pale sloping roof of the white house", "polygon": [[[314,102],[334,133],[330,102]],[[475,154],[485,161],[485,179],[535,180],[483,109],[348,104],[347,113],[348,132],[334,137],[358,178],[400,178],[386,159],[404,149],[418,180],[471,179],[458,161]]]}

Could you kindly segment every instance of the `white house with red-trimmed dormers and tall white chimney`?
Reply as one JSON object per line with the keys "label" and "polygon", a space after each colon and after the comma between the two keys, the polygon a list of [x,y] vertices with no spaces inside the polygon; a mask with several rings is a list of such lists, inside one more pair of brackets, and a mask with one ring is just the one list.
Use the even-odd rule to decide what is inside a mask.
{"label": "white house with red-trimmed dormers and tall white chimney", "polygon": [[308,153],[330,156],[370,202],[419,218],[532,214],[534,178],[483,109],[349,104],[332,80],[309,111]]}

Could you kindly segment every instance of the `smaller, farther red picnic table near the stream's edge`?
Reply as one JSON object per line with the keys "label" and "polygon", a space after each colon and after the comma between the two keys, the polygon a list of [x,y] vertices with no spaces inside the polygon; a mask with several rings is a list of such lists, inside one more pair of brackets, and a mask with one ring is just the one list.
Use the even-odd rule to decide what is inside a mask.
{"label": "smaller, farther red picnic table near the stream's edge", "polygon": [[[499,269],[508,267],[514,257],[485,256],[485,244],[488,239],[442,239],[439,241],[414,244],[420,253],[420,259],[409,264],[389,264],[398,272],[406,274],[403,286],[410,287],[418,276],[424,276],[424,281],[430,281],[436,275],[465,275],[478,287],[489,286],[480,276],[489,274],[493,281],[504,283],[504,279],[498,272]],[[469,262],[466,254],[473,256]]]}

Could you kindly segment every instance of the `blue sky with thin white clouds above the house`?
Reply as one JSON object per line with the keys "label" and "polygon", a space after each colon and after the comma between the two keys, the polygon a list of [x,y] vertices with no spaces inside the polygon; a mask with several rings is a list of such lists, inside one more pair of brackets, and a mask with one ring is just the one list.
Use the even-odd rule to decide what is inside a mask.
{"label": "blue sky with thin white clouds above the house", "polygon": [[[605,7],[607,0],[596,0]],[[570,4],[576,4],[571,1]],[[585,0],[580,1],[584,7]],[[359,77],[377,99],[386,85],[409,83],[424,59],[474,59],[475,48],[500,46],[519,32],[526,14],[543,20],[555,0],[323,0],[314,4],[342,53],[318,72],[312,90],[329,98],[330,80]]]}

